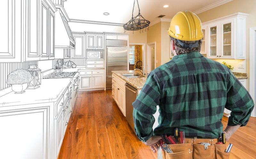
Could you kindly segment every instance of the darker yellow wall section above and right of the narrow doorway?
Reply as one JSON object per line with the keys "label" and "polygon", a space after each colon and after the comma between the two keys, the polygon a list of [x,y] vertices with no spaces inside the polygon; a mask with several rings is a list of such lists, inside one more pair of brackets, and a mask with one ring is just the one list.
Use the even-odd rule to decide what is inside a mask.
{"label": "darker yellow wall section above and right of the narrow doorway", "polygon": [[156,67],[161,65],[161,22],[149,27],[147,30],[147,43],[156,41]]}

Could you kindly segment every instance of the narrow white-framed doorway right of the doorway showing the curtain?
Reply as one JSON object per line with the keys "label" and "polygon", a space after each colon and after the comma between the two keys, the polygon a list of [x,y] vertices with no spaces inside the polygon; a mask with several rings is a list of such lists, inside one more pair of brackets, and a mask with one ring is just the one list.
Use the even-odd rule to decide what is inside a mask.
{"label": "narrow white-framed doorway right of the doorway showing the curtain", "polygon": [[156,42],[147,44],[146,64],[148,65],[148,72],[156,69]]}

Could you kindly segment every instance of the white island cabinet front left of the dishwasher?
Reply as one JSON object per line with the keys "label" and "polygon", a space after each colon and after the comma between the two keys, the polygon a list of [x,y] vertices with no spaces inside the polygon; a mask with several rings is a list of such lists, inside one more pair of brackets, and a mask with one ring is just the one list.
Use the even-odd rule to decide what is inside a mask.
{"label": "white island cabinet front left of the dishwasher", "polygon": [[126,115],[125,110],[125,81],[112,74],[112,97],[116,101],[121,112]]}

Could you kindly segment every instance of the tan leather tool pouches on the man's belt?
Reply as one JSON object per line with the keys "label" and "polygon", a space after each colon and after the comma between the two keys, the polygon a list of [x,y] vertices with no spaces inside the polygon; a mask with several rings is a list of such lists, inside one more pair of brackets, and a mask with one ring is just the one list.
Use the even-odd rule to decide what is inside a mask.
{"label": "tan leather tool pouches on the man's belt", "polygon": [[213,144],[217,139],[210,141],[211,145],[199,144],[209,142],[209,139],[188,139],[185,144],[168,145],[173,153],[162,150],[163,159],[229,159],[230,152],[225,152],[227,144]]}

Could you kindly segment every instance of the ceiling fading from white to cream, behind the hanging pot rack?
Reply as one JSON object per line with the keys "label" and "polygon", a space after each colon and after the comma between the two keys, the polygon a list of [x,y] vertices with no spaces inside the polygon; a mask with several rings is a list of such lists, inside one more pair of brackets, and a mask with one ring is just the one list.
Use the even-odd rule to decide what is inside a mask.
{"label": "ceiling fading from white to cream, behind the hanging pot rack", "polygon": [[[220,0],[224,2],[227,0]],[[230,0],[229,0],[230,1]],[[90,20],[111,23],[127,23],[132,18],[134,0],[67,0],[64,8],[70,19]],[[211,4],[216,0],[138,0],[140,14],[150,23],[163,18],[172,18],[178,11],[196,11]],[[219,1],[218,1],[219,2]],[[164,5],[169,7],[164,8]],[[103,15],[108,12],[109,15]],[[133,17],[138,15],[139,9],[135,0]]]}

